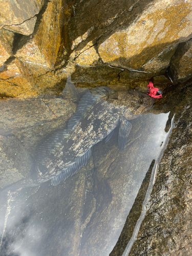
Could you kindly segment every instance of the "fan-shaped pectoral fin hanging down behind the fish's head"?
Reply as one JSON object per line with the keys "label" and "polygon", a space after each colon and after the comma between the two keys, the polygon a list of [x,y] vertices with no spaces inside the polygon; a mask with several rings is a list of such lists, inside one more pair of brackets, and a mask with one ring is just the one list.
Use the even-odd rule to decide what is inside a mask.
{"label": "fan-shaped pectoral fin hanging down behind the fish's head", "polygon": [[127,137],[130,134],[131,129],[132,129],[132,124],[123,117],[121,119],[121,124],[119,127],[119,137],[118,137],[118,145],[120,150],[124,149],[126,145]]}

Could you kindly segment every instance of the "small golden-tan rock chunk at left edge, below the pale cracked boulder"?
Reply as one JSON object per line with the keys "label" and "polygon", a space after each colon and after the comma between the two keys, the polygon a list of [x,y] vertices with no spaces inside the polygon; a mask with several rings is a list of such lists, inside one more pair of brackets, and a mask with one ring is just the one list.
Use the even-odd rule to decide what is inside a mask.
{"label": "small golden-tan rock chunk at left edge, below the pale cracked boulder", "polygon": [[13,38],[13,32],[0,29],[0,68],[12,54]]}

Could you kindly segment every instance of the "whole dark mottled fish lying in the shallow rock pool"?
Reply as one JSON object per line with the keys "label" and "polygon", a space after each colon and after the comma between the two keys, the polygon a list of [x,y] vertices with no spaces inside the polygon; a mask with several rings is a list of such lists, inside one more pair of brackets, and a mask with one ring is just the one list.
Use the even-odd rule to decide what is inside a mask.
{"label": "whole dark mottled fish lying in the shallow rock pool", "polygon": [[76,112],[66,130],[56,132],[39,146],[35,175],[21,181],[21,186],[35,186],[48,180],[56,186],[66,180],[87,164],[91,147],[104,138],[108,142],[118,125],[118,145],[123,150],[132,128],[128,120],[142,114],[154,102],[147,94],[135,91],[115,92],[108,87],[81,93],[79,90],[68,77],[63,94],[79,100]]}

